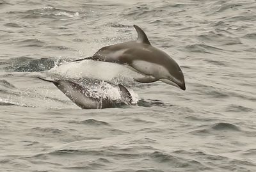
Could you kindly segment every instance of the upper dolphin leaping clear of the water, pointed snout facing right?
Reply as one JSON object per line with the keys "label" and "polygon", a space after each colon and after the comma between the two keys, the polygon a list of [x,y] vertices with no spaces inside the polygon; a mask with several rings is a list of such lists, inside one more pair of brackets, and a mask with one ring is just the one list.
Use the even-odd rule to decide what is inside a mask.
{"label": "upper dolphin leaping clear of the water, pointed snout facing right", "polygon": [[136,41],[129,41],[102,47],[93,56],[84,59],[119,63],[131,67],[132,70],[145,75],[135,81],[148,83],[163,81],[186,90],[184,75],[180,66],[165,52],[153,47],[144,31],[134,25],[138,33]]}

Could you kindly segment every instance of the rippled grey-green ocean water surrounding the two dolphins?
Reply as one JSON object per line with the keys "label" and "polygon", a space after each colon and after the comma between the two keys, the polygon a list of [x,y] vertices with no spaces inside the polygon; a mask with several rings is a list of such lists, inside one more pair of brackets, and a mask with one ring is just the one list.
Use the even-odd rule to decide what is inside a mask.
{"label": "rippled grey-green ocean water surrounding the two dolphins", "polygon": [[[256,1],[0,1],[0,171],[256,171]],[[186,91],[74,59],[136,39]],[[83,110],[35,78],[122,82],[136,104]]]}

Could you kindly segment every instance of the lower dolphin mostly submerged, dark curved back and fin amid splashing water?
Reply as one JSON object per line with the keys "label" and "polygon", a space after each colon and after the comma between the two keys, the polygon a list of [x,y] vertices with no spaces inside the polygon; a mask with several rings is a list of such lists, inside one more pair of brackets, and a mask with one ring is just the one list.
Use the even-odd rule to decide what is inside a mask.
{"label": "lower dolphin mostly submerged, dark curved back and fin amid splashing water", "polygon": [[52,82],[60,91],[62,91],[72,102],[82,109],[103,109],[110,107],[119,107],[124,105],[132,104],[131,93],[122,85],[118,85],[120,89],[121,100],[111,100],[109,98],[96,98],[90,96],[88,89],[83,86],[68,80],[54,80],[54,79],[43,79],[47,82]]}

